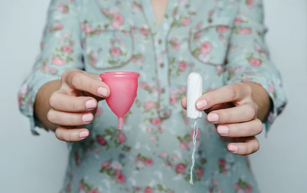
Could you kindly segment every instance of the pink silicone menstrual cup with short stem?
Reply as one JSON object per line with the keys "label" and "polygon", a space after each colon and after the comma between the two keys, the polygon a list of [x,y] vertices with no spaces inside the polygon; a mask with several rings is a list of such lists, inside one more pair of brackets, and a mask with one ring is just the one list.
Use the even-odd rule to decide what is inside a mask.
{"label": "pink silicone menstrual cup with short stem", "polygon": [[133,105],[138,90],[137,72],[104,72],[100,74],[101,80],[108,85],[111,94],[105,99],[107,105],[118,118],[118,129],[124,127],[124,116]]}

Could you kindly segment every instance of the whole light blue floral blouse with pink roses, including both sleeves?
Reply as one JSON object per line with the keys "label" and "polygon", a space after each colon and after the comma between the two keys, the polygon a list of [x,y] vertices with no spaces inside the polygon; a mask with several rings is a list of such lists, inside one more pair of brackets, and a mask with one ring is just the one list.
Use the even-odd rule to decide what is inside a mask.
{"label": "whole light blue floral blouse with pink roses, including both sleeves", "polygon": [[101,101],[86,126],[90,136],[69,143],[61,191],[258,193],[247,157],[228,152],[206,116],[198,121],[189,183],[193,121],[180,101],[191,72],[201,73],[204,92],[257,82],[273,102],[264,122],[268,131],[287,99],[263,19],[260,0],[168,0],[160,25],[149,0],[53,0],[41,53],[18,94],[34,135],[41,127],[33,114],[37,91],[64,71],[141,74],[124,130],[117,130],[117,117]]}

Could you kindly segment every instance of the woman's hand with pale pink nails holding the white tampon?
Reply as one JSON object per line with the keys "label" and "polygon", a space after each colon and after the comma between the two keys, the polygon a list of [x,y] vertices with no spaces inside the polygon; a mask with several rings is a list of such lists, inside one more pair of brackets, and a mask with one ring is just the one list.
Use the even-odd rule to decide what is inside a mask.
{"label": "woman's hand with pale pink nails holding the white tampon", "polygon": [[[234,83],[203,94],[196,101],[196,109],[204,110],[207,120],[215,124],[217,133],[229,137],[227,148],[238,155],[258,151],[256,135],[263,130],[257,119],[258,106],[252,98],[252,88],[246,83]],[[181,101],[186,109],[186,97]]]}

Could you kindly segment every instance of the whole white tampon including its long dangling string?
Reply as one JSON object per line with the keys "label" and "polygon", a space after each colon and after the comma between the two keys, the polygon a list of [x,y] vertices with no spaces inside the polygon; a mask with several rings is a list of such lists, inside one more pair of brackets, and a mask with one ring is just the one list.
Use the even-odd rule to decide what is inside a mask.
{"label": "whole white tampon including its long dangling string", "polygon": [[196,150],[196,136],[198,135],[198,126],[196,119],[203,117],[203,111],[199,111],[195,107],[196,100],[203,94],[203,78],[199,73],[191,73],[188,76],[187,83],[187,117],[194,119],[193,130],[193,152],[192,152],[192,165],[190,169],[190,183],[193,184],[193,167],[195,164],[194,154]]}

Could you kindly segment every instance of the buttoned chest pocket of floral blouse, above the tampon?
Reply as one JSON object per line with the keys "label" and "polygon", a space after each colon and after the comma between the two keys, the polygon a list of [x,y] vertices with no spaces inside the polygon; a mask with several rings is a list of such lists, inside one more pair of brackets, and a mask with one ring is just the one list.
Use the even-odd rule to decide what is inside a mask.
{"label": "buttoned chest pocket of floral blouse, above the tampon", "polygon": [[196,25],[189,31],[188,49],[196,63],[222,66],[232,32],[229,18],[218,18],[207,26]]}

